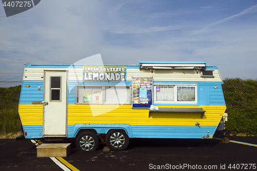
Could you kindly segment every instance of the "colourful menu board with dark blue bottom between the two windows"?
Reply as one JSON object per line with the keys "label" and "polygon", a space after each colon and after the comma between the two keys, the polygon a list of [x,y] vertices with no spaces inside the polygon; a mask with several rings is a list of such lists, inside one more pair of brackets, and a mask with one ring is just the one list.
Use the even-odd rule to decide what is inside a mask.
{"label": "colourful menu board with dark blue bottom between the two windows", "polygon": [[132,78],[132,108],[150,108],[153,101],[153,78]]}

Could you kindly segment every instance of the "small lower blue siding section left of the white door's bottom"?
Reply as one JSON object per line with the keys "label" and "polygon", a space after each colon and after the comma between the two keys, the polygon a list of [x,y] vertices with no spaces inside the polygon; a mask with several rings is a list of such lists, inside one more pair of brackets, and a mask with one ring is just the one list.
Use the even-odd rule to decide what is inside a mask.
{"label": "small lower blue siding section left of the white door's bottom", "polygon": [[42,125],[24,125],[24,132],[27,132],[27,136],[25,138],[34,139],[34,138],[42,138],[43,134],[43,126]]}

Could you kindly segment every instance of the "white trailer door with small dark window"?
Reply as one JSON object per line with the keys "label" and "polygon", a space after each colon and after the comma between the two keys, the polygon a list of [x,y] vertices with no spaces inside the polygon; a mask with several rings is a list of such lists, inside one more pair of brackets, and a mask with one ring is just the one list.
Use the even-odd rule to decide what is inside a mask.
{"label": "white trailer door with small dark window", "polygon": [[66,71],[45,71],[44,137],[66,137],[67,79]]}

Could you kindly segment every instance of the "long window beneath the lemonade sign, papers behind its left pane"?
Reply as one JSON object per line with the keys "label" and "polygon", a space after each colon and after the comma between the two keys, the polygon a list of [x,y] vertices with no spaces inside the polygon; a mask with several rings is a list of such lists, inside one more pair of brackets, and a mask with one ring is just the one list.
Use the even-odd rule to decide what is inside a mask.
{"label": "long window beneath the lemonade sign, papers behind its left pane", "polygon": [[77,104],[131,104],[130,86],[77,86]]}

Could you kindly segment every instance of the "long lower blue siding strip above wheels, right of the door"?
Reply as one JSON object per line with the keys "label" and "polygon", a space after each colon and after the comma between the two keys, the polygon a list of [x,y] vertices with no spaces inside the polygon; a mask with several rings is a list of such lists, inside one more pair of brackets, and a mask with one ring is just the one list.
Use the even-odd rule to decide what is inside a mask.
{"label": "long lower blue siding strip above wheels, right of the door", "polygon": [[203,138],[203,136],[214,135],[216,128],[216,126],[75,124],[68,126],[68,138],[76,137],[76,134],[80,129],[95,129],[98,134],[106,134],[109,129],[124,129],[130,138]]}

